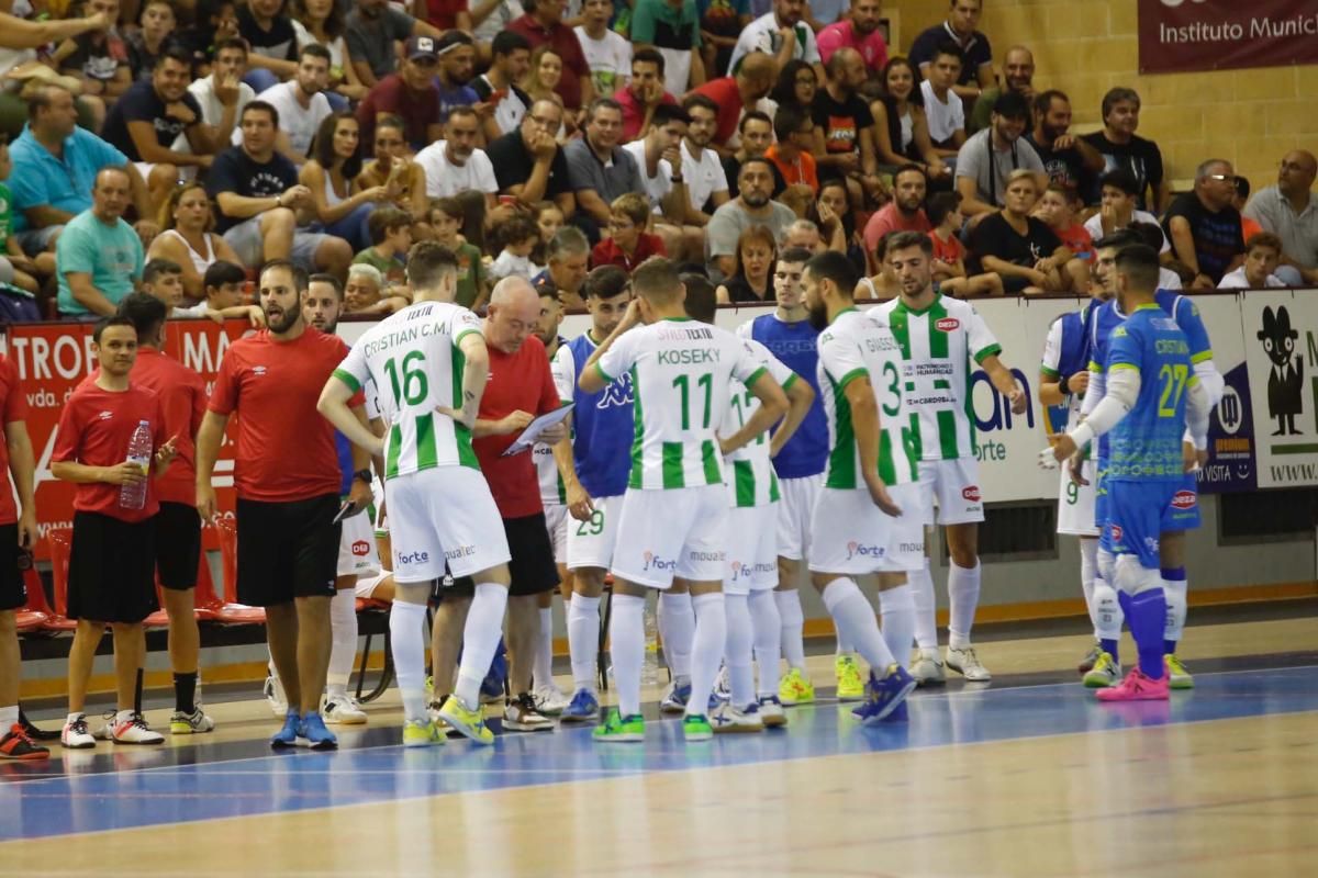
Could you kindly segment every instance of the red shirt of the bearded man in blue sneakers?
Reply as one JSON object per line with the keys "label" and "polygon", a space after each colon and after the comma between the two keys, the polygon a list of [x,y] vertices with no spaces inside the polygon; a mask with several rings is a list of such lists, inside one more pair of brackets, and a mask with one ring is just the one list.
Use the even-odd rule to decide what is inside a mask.
{"label": "red shirt of the bearded man in blue sneakers", "polygon": [[[293,341],[274,341],[262,329],[225,351],[208,408],[216,415],[241,409],[233,469],[240,499],[339,496],[343,474],[333,426],[316,411],[316,400],[347,355],[341,338],[311,326]],[[358,392],[349,404],[361,401]]]}

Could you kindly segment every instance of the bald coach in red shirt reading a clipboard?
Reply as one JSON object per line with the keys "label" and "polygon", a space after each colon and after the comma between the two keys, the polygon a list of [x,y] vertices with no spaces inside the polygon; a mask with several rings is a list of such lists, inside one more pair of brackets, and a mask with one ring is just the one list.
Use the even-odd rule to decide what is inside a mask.
{"label": "bald coach in red shirt reading a clipboard", "polygon": [[[554,721],[536,710],[531,698],[531,671],[540,632],[539,595],[558,587],[559,573],[544,523],[535,459],[530,449],[503,457],[527,424],[559,407],[550,358],[544,344],[535,336],[539,320],[540,297],[530,283],[522,278],[505,278],[494,286],[485,319],[490,376],[472,430],[472,448],[503,519],[513,553],[509,562],[513,584],[507,600],[513,700],[503,712],[503,728],[513,732],[554,728]],[[556,425],[540,438],[554,445],[567,434],[565,429],[561,424]],[[471,604],[469,588],[469,581],[460,579],[443,592],[431,637],[436,681],[453,678],[457,646]]]}

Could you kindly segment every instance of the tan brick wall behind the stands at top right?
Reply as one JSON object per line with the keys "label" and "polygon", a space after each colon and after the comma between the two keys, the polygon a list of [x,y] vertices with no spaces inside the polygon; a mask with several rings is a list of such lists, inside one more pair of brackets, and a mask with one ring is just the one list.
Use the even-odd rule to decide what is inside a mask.
{"label": "tan brick wall behind the stands at top right", "polygon": [[[1248,0],[1240,0],[1247,3]],[[946,0],[884,0],[900,14],[905,51],[920,30],[946,17]],[[1136,0],[985,0],[981,29],[994,63],[1014,43],[1035,53],[1035,84],[1072,99],[1075,128],[1102,124],[1099,104],[1114,86],[1143,100],[1140,134],[1157,141],[1173,180],[1194,176],[1205,158],[1224,158],[1255,188],[1276,182],[1286,150],[1318,151],[1318,67],[1139,75]]]}

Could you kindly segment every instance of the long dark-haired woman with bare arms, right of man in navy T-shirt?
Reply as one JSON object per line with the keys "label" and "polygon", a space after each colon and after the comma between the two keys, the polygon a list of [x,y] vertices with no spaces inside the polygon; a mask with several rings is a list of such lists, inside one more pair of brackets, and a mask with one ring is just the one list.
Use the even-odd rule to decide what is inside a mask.
{"label": "long dark-haired woman with bare arms, right of man in navy T-shirt", "polygon": [[353,253],[370,246],[366,217],[376,205],[393,200],[386,186],[361,188],[361,129],[349,112],[331,113],[316,129],[312,158],[302,166],[298,182],[311,190],[315,219],[326,234],[347,241]]}

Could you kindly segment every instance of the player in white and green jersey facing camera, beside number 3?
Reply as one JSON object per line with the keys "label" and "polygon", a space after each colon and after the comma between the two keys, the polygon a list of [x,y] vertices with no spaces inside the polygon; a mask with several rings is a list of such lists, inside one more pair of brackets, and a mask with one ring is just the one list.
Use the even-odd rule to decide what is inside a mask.
{"label": "player in white and green jersey facing camera, beside number 3", "polygon": [[[998,358],[1002,346],[974,307],[934,291],[932,253],[933,242],[924,233],[900,232],[888,238],[886,258],[902,295],[871,313],[890,326],[905,361],[903,380],[920,459],[925,524],[934,524],[937,504],[937,523],[946,528],[950,554],[946,665],[969,681],[987,681],[991,675],[970,645],[979,604],[979,523],[985,520],[971,421],[971,371],[977,365],[982,367],[1014,413],[1025,411],[1027,399]],[[911,670],[921,683],[942,682],[928,567],[913,574],[912,584],[920,654]]]}

